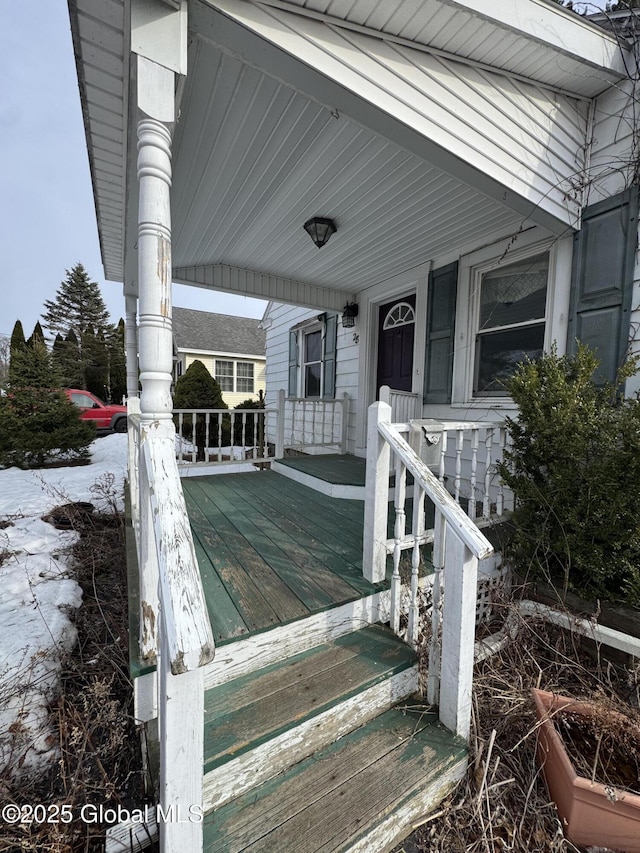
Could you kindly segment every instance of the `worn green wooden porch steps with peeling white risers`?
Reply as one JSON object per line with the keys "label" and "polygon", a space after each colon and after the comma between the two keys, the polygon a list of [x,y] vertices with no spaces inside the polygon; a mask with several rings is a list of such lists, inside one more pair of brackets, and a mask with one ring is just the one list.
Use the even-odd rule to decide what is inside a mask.
{"label": "worn green wooden porch steps with peeling white risers", "polygon": [[466,766],[417,687],[414,652],[369,625],[208,690],[204,849],[390,849]]}

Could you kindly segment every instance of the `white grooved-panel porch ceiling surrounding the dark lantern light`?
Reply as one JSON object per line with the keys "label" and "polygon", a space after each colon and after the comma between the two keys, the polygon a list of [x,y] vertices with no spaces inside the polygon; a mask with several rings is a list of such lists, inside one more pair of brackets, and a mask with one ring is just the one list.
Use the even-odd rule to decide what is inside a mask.
{"label": "white grooved-panel porch ceiling surrounding the dark lantern light", "polygon": [[[288,279],[283,296],[304,302],[295,281],[358,292],[521,221],[205,40],[189,62],[174,144],[176,280],[222,287],[215,265],[260,270]],[[312,216],[338,229],[321,250],[302,227]],[[271,286],[253,291],[277,298],[259,292]]]}

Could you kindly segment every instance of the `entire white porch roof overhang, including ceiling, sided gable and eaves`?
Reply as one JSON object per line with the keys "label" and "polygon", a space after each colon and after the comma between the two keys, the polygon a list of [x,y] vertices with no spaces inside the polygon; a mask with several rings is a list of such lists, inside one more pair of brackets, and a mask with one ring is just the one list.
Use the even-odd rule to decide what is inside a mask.
{"label": "entire white porch roof overhang, including ceiling, sided gable and eaves", "polygon": [[[69,0],[105,275],[135,293],[130,5]],[[175,281],[340,310],[496,232],[577,225],[584,99],[623,76],[611,35],[546,0],[504,20],[488,2],[391,5],[190,0]],[[338,227],[322,250],[313,215]]]}

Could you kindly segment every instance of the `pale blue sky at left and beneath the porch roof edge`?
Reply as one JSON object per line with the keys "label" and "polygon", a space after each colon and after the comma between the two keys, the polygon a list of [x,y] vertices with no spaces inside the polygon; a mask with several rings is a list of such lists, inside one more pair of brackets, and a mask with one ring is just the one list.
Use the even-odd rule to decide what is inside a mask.
{"label": "pale blue sky at left and beneath the porch roof edge", "polygon": [[[25,334],[66,271],[84,265],[111,319],[122,286],[107,282],[65,0],[0,0],[0,335]],[[266,303],[174,285],[174,305],[261,317]]]}

